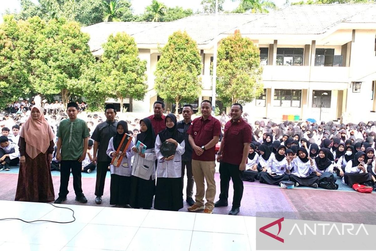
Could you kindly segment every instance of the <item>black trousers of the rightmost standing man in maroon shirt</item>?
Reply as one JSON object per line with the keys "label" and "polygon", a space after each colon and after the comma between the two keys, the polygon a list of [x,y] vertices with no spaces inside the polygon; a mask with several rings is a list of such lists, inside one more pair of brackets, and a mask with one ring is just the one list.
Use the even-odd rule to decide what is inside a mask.
{"label": "black trousers of the rightmost standing man in maroon shirt", "polygon": [[227,199],[229,198],[229,185],[231,178],[234,189],[232,206],[240,207],[244,187],[242,180],[243,172],[239,170],[239,165],[221,162],[219,165],[219,174],[221,178],[221,193],[219,195],[220,201],[227,202]]}

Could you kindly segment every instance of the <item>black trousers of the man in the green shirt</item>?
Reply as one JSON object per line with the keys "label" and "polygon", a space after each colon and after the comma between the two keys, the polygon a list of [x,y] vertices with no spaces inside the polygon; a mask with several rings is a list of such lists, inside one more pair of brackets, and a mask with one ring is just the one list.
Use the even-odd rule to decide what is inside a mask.
{"label": "black trousers of the man in the green shirt", "polygon": [[69,193],[68,184],[69,184],[69,176],[70,176],[71,170],[72,170],[72,175],[73,175],[74,193],[76,193],[77,197],[83,196],[82,183],[81,183],[81,168],[82,168],[82,163],[78,162],[78,160],[60,161],[60,191],[59,191],[60,198],[67,197]]}

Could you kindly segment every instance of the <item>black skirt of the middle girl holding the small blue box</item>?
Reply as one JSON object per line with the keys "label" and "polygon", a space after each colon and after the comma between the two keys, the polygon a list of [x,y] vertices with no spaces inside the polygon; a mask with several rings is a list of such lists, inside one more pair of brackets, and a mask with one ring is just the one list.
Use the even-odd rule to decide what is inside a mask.
{"label": "black skirt of the middle girl holding the small blue box", "polygon": [[129,205],[133,208],[151,208],[154,192],[155,180],[152,180],[152,177],[150,177],[150,180],[144,180],[132,175],[130,178]]}

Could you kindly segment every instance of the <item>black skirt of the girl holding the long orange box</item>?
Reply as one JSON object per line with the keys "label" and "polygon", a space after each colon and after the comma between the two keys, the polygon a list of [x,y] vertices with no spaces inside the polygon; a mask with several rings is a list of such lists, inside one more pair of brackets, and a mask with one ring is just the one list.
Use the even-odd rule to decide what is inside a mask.
{"label": "black skirt of the girl holding the long orange box", "polygon": [[130,177],[111,174],[110,205],[128,205],[130,198]]}

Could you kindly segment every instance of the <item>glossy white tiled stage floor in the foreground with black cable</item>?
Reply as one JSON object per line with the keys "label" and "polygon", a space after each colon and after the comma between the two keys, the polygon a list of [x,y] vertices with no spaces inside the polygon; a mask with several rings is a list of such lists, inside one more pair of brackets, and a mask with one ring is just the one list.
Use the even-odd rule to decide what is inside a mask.
{"label": "glossy white tiled stage floor in the foreground with black cable", "polygon": [[[66,205],[67,224],[0,221],[1,251],[255,250],[255,217]],[[71,221],[46,203],[0,201],[0,218]],[[252,248],[251,248],[252,247]]]}

